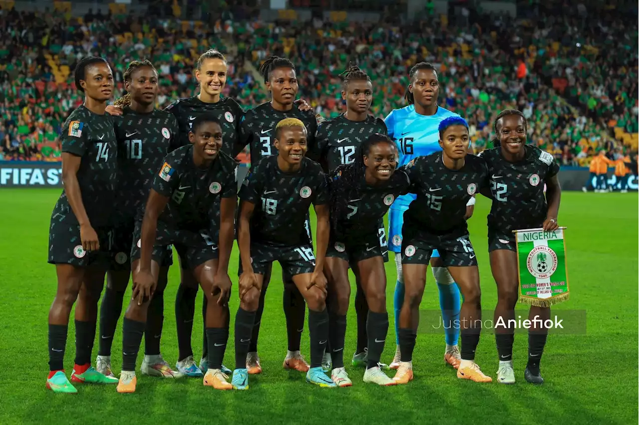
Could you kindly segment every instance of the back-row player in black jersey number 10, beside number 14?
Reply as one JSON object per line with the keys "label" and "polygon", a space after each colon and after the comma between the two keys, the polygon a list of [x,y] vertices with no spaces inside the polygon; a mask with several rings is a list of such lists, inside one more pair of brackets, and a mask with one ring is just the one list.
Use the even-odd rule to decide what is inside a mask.
{"label": "back-row player in black jersey number 10, beside number 14", "polygon": [[[131,251],[135,215],[144,207],[153,175],[164,157],[179,147],[178,122],[168,112],[155,108],[158,73],[150,61],[132,61],[124,73],[127,93],[115,101],[122,110],[115,117],[118,139],[118,208],[112,214],[111,265],[107,271],[107,288],[100,306],[100,338],[96,369],[113,377],[111,345],[122,312],[122,301],[131,274]],[[173,250],[166,246],[160,261],[158,287],[149,306],[149,320],[144,332],[142,373],[166,378],[178,377],[160,355],[160,336],[164,320],[164,288]]]}

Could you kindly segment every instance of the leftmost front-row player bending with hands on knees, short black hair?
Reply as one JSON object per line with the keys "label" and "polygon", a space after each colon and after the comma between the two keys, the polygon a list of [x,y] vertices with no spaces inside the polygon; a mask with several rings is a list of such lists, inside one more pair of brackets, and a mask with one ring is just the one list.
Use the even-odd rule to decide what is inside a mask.
{"label": "leftmost front-row player bending with hands on knees, short black hair", "polygon": [[175,245],[182,265],[193,273],[208,299],[205,331],[209,357],[204,385],[232,388],[221,368],[229,337],[228,265],[235,235],[236,164],[222,152],[222,126],[213,117],[196,117],[189,140],[190,145],[164,159],[153,178],[144,218],[135,228],[137,244],[131,252],[134,287],[123,321],[118,392],[135,391],[135,358],[167,244]]}

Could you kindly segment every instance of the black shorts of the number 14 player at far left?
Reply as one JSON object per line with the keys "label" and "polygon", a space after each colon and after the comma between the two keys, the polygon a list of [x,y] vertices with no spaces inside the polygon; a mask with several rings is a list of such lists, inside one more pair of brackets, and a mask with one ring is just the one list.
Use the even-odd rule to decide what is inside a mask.
{"label": "black shorts of the number 14 player at far left", "polygon": [[76,267],[96,265],[106,269],[109,265],[112,232],[108,227],[94,227],[93,230],[98,234],[100,250],[85,251],[82,248],[79,225],[51,220],[48,262],[50,264],[71,264]]}

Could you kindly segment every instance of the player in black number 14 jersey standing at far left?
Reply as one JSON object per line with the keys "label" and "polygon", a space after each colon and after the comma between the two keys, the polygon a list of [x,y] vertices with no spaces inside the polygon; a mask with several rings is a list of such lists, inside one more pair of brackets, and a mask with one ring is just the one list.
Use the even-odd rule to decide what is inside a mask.
{"label": "player in black number 14 jersey standing at far left", "polygon": [[[75,87],[84,93],[84,104],[66,119],[61,133],[63,190],[51,215],[49,263],[56,265],[58,290],[49,310],[49,377],[54,392],[77,390],[66,378],[66,332],[73,303],[84,284],[87,293],[102,291],[109,216],[116,198],[118,144],[113,119],[105,114],[113,90],[111,67],[102,57],[86,57],[75,67]],[[102,273],[103,280],[95,276]],[[99,297],[99,295],[98,295]],[[95,339],[97,300],[85,301],[75,320],[75,366],[72,382],[116,384],[91,366]]]}

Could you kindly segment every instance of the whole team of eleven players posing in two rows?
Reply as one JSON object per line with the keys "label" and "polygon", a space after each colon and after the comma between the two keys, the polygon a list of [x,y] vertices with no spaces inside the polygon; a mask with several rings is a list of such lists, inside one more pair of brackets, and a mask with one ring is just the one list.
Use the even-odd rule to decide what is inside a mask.
{"label": "whole team of eleven players posing in two rows", "polygon": [[[540,362],[549,305],[530,306],[530,320],[541,325],[528,330],[525,364],[512,362],[509,326],[495,329],[495,364],[482,365],[497,373],[475,363],[481,289],[466,220],[477,195],[492,205],[488,246],[498,292],[495,320],[514,319],[520,285],[516,231],[560,229],[559,165],[553,155],[527,144],[522,112],[495,111],[494,147],[475,156],[466,120],[438,106],[438,70],[430,63],[406,70],[407,106],[387,111],[383,120],[369,114],[373,84],[380,82],[355,63],[341,74],[346,112],[329,120],[298,99],[295,64],[288,59],[263,61],[259,71],[271,99],[246,112],[221,95],[227,68],[224,54],[203,52],[194,70],[199,94],[160,110],[155,107],[160,77],[150,61],[128,63],[127,94],[114,102],[114,74],[106,59],[86,57],[75,67],[84,103],[61,132],[64,190],[49,231],[49,263],[56,266],[58,287],[49,311],[47,389],[75,393],[77,384],[87,383],[114,384],[122,393],[144,391],[146,377],[136,375],[138,366],[142,375],[249,389],[250,375],[262,373],[259,324],[273,262],[281,264],[284,285],[288,350],[282,367],[304,373],[310,384],[410,385],[420,368],[412,362],[419,306],[433,279],[443,321],[458,324],[446,329],[436,361],[449,364],[457,378],[478,383],[544,382]],[[245,148],[250,170],[238,178],[235,158]],[[229,267],[235,243],[237,271]],[[396,276],[387,276],[385,262],[396,264]],[[160,354],[164,289],[176,284],[167,278],[172,265],[180,269],[175,364]],[[277,285],[280,276],[274,277]],[[395,285],[392,359],[381,358],[389,333],[387,281]],[[199,288],[204,334],[198,364],[192,322]],[[236,311],[229,309],[231,297],[239,297]],[[345,363],[351,299],[357,350]],[[73,306],[76,349],[68,374]],[[112,347],[118,321],[119,373],[111,367],[112,352],[119,352]],[[305,326],[309,361],[300,352]],[[235,362],[224,357],[229,343]],[[365,368],[366,384],[351,380],[351,366]]]}

